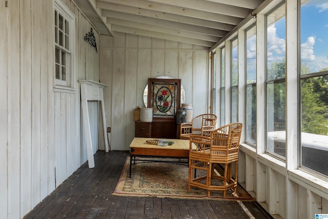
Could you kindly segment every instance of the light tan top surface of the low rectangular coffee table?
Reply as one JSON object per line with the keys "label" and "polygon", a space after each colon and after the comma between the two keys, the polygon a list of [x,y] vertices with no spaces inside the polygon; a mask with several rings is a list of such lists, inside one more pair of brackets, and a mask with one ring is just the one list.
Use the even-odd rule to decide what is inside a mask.
{"label": "light tan top surface of the low rectangular coffee table", "polygon": [[[148,144],[146,141],[148,140],[159,140],[160,138],[148,138],[148,137],[135,137],[133,138],[130,148],[158,148],[158,149],[178,149],[178,150],[189,150],[189,140],[183,139],[170,139],[170,141],[174,142],[173,145],[168,146],[158,146]],[[193,145],[193,148],[196,148]]]}

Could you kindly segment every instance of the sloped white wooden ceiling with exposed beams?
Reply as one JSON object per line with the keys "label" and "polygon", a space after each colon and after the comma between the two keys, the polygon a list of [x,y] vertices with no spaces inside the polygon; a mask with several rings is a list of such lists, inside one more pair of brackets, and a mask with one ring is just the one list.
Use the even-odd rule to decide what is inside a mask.
{"label": "sloped white wooden ceiling with exposed beams", "polygon": [[101,34],[117,31],[209,48],[268,1],[75,0]]}

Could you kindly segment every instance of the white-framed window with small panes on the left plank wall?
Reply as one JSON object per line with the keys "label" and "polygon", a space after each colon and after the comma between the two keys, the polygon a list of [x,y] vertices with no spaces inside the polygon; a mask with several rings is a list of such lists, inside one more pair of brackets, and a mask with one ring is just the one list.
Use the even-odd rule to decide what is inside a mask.
{"label": "white-framed window with small panes on the left plank wall", "polygon": [[75,16],[61,1],[55,1],[55,87],[74,88]]}

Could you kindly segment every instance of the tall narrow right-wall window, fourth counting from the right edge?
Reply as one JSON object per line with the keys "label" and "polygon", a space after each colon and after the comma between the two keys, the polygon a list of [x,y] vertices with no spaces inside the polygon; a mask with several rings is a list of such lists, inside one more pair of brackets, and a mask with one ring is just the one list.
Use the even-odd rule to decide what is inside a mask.
{"label": "tall narrow right-wall window, fourth counting from the right edge", "polygon": [[231,41],[231,122],[238,122],[238,38]]}

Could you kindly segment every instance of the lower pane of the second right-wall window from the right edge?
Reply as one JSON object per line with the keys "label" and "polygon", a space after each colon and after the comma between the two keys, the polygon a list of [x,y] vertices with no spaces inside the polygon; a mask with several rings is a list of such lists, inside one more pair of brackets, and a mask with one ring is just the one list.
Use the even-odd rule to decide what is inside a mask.
{"label": "lower pane of the second right-wall window from the right edge", "polygon": [[285,83],[267,84],[267,151],[285,157]]}

